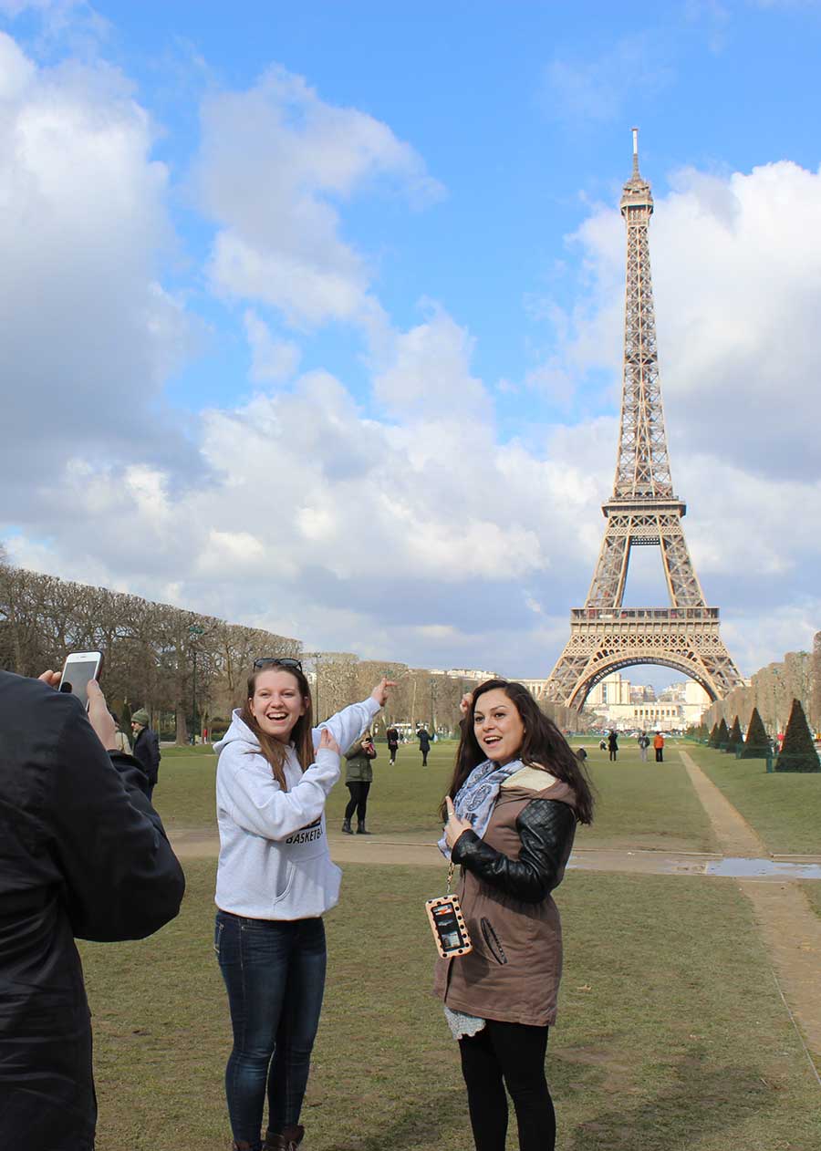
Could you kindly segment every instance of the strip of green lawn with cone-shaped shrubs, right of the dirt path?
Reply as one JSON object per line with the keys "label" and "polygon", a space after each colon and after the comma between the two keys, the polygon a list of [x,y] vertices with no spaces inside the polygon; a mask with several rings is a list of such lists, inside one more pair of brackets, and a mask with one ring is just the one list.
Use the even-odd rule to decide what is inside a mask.
{"label": "strip of green lawn with cone-shaped shrubs, right of the dirt path", "polygon": [[698,744],[686,749],[771,854],[821,852],[821,772],[768,775],[763,760],[736,760]]}

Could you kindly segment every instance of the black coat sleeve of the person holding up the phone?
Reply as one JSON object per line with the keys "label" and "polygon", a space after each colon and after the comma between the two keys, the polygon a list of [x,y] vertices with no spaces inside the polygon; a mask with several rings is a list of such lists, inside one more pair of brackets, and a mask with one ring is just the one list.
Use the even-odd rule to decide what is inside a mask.
{"label": "black coat sleeve of the person holding up the phone", "polygon": [[132,756],[102,749],[79,706],[64,717],[48,777],[47,846],[74,933],[143,939],[174,918],[185,878],[145,773]]}

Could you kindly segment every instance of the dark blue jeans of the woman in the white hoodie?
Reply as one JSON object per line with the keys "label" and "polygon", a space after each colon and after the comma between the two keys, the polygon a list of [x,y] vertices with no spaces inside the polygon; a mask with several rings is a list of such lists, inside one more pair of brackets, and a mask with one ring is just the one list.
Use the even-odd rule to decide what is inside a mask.
{"label": "dark blue jeans of the woman in the white hoodie", "polygon": [[325,924],[218,912],[214,950],[234,1029],[226,1067],[231,1133],[256,1151],[266,1092],[268,1137],[299,1121],[325,990]]}

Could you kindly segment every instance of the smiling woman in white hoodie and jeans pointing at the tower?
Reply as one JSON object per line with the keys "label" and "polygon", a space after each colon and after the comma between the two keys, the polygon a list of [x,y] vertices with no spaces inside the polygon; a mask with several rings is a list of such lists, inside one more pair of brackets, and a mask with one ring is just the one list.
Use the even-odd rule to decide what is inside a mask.
{"label": "smiling woman in white hoodie and jeans pointing at the tower", "polygon": [[[321,916],[340,891],[325,801],[349,747],[387,700],[382,679],[363,703],[312,727],[298,660],[257,660],[245,704],[215,745],[214,948],[228,991],[234,1047],[226,1068],[236,1151],[295,1151],[325,989]],[[260,1142],[263,1110],[268,1126]]]}

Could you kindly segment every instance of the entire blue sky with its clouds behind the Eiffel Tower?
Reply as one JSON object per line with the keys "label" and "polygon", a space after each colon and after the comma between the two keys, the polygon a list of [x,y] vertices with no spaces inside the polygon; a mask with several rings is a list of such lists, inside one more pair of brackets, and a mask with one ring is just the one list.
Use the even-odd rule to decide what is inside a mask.
{"label": "entire blue sky with its clouds behind the Eiffel Tower", "polygon": [[809,643],[821,3],[0,0],[0,31],[15,561],[547,674],[613,482],[637,124],[691,551],[745,673]]}

